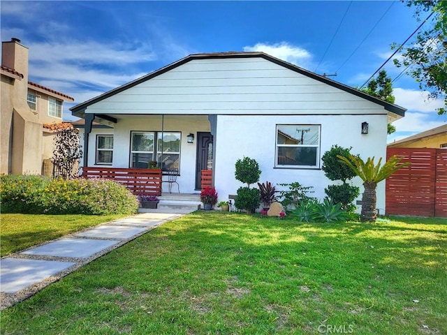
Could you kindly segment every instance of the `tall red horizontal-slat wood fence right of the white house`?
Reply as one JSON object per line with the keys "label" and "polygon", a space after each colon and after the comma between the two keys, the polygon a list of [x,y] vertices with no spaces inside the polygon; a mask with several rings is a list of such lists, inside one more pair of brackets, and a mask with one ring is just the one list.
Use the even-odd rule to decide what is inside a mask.
{"label": "tall red horizontal-slat wood fence right of the white house", "polygon": [[388,148],[411,165],[386,179],[386,214],[447,217],[447,149]]}

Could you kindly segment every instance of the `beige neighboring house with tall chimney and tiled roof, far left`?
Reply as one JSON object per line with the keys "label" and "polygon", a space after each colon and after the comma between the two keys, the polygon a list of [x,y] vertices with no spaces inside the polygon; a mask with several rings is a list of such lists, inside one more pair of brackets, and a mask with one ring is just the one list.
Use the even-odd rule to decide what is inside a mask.
{"label": "beige neighboring house with tall chimney and tiled roof, far left", "polygon": [[51,174],[54,133],[71,96],[28,80],[28,48],[13,38],[1,43],[0,174]]}

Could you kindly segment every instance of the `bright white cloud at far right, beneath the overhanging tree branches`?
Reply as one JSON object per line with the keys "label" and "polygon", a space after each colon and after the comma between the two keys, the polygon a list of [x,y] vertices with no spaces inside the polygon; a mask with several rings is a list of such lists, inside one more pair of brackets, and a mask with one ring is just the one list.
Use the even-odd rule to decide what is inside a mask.
{"label": "bright white cloud at far right, beneath the overhanging tree branches", "polygon": [[427,91],[395,88],[393,89],[393,95],[396,98],[395,103],[407,110],[432,112],[436,114],[436,109],[444,106],[444,101],[442,99],[427,100]]}

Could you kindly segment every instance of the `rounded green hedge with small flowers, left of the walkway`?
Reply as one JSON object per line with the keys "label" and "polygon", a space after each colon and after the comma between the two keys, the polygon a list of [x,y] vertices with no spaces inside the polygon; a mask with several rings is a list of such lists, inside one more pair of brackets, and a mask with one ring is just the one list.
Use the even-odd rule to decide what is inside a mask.
{"label": "rounded green hedge with small flowers, left of the walkway", "polygon": [[107,179],[48,179],[9,174],[1,177],[1,212],[22,214],[133,214],[138,200]]}

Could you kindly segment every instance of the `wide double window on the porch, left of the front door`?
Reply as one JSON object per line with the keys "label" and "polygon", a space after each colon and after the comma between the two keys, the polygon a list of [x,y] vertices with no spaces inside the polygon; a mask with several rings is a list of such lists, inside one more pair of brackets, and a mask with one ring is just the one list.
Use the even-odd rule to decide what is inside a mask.
{"label": "wide double window on the porch, left of the front door", "polygon": [[[163,135],[163,139],[162,139]],[[179,132],[131,132],[131,168],[147,169],[150,161],[156,161],[162,170],[179,169]],[[156,139],[156,149],[155,149]]]}

